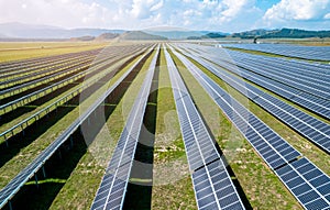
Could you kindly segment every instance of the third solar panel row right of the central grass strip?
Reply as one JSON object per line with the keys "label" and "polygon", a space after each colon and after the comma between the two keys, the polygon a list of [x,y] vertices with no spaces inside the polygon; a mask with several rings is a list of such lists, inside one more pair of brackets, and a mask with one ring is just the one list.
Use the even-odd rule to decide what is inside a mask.
{"label": "third solar panel row right of the central grass strip", "polygon": [[196,59],[211,73],[217,75],[223,81],[239,90],[241,93],[246,96],[249,99],[267,110],[270,113],[292,126],[297,132],[301,133],[312,143],[330,153],[330,125],[305,113],[304,111],[287,104],[286,102],[273,97],[261,89],[245,82],[233,75],[221,70],[216,65],[201,59],[193,54],[185,54]]}

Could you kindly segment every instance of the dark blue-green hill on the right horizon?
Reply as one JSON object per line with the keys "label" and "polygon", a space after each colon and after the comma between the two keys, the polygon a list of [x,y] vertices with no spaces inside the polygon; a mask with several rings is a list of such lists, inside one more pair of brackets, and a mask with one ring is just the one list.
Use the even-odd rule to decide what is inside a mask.
{"label": "dark blue-green hill on the right horizon", "polygon": [[330,31],[306,31],[298,29],[282,30],[253,30],[241,33],[233,33],[232,37],[241,38],[307,38],[307,37],[330,37]]}

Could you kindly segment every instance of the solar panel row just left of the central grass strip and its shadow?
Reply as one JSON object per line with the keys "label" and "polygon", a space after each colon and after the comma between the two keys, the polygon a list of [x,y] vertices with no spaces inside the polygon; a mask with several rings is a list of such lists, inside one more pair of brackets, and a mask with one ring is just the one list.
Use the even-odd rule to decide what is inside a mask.
{"label": "solar panel row just left of the central grass strip and its shadow", "polygon": [[150,64],[144,82],[117,143],[91,209],[121,209],[123,207],[158,52],[160,46]]}

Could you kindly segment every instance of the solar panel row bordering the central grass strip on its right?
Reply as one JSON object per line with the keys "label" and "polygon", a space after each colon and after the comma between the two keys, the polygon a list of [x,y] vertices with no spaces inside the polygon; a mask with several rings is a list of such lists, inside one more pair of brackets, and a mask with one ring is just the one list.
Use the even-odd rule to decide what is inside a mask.
{"label": "solar panel row bordering the central grass strip on its right", "polygon": [[165,51],[198,209],[244,209],[180,75]]}

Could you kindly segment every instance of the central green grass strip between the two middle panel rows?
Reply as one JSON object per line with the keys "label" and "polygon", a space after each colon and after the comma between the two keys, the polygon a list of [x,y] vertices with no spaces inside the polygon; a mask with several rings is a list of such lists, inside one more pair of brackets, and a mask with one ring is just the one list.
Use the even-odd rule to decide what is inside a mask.
{"label": "central green grass strip between the two middle panel rows", "polygon": [[152,209],[197,209],[163,49],[158,86]]}

